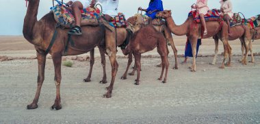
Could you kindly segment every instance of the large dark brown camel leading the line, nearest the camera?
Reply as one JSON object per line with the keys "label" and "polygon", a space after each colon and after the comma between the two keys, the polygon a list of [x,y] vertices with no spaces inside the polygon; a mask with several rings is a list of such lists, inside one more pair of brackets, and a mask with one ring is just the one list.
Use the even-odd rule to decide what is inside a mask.
{"label": "large dark brown camel leading the line, nearest the camera", "polygon": [[[43,16],[40,21],[37,21],[38,7],[40,0],[29,0],[27,13],[23,25],[23,36],[26,40],[34,45],[37,51],[38,60],[38,86],[34,101],[27,106],[27,109],[38,108],[38,99],[40,97],[40,90],[42,83],[44,82],[44,68],[46,63],[46,51],[49,47],[52,34],[55,32],[55,19],[53,13],[50,12]],[[61,63],[62,55],[66,47],[66,41],[68,40],[69,29],[57,28],[57,37],[53,47],[51,47],[49,53],[53,58],[53,64],[55,67],[55,85],[56,85],[56,99],[55,103],[51,107],[52,109],[60,110],[60,83],[61,83]],[[118,70],[118,63],[116,62],[116,44],[114,32],[105,32],[102,26],[84,26],[82,27],[83,34],[81,36],[72,36],[72,40],[75,42],[75,47],[69,45],[66,55],[78,55],[86,53],[92,50],[97,45],[106,44],[106,51],[109,53],[109,59],[112,65],[112,79],[111,84],[107,87],[107,93],[104,97],[112,97],[112,90],[114,86],[114,80]],[[105,41],[105,42],[104,42]]]}

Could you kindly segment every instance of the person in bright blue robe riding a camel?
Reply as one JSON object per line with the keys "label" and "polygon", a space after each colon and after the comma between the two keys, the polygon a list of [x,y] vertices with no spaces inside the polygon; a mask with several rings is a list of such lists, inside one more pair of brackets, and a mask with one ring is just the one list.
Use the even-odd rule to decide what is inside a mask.
{"label": "person in bright blue robe riding a camel", "polygon": [[146,16],[149,17],[149,22],[156,18],[156,13],[164,11],[163,2],[161,0],[151,0],[147,9],[138,8],[138,10],[145,11]]}

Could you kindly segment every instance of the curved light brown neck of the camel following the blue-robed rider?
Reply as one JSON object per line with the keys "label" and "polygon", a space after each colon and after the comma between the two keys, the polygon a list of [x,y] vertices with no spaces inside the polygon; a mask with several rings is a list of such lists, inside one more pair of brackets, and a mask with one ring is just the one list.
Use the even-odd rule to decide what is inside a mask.
{"label": "curved light brown neck of the camel following the blue-robed rider", "polygon": [[188,27],[187,20],[182,25],[176,25],[174,23],[172,16],[169,16],[168,18],[166,18],[166,21],[167,21],[167,25],[168,25],[170,31],[173,34],[175,34],[177,36],[183,36],[183,35],[187,34],[187,27]]}

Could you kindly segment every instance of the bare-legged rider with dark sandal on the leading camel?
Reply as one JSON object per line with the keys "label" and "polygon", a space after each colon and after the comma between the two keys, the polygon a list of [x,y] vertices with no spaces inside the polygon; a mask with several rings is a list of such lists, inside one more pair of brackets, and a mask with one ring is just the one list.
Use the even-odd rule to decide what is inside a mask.
{"label": "bare-legged rider with dark sandal on the leading camel", "polygon": [[[95,0],[72,0],[72,1],[68,1],[67,5],[73,10],[73,15],[75,17],[75,27],[73,27],[73,29],[70,29],[70,31],[68,32],[68,34],[71,35],[81,35],[81,10],[83,10],[83,8],[87,8],[88,5],[93,5],[95,4],[96,1]],[[94,6],[94,5],[93,5]]]}

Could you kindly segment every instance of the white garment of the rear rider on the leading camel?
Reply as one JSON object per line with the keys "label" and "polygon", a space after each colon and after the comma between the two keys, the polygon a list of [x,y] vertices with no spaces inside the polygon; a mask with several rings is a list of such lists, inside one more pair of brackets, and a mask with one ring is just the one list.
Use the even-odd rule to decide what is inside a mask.
{"label": "white garment of the rear rider on the leading camel", "polygon": [[102,4],[103,14],[115,17],[118,15],[119,0],[97,0]]}

